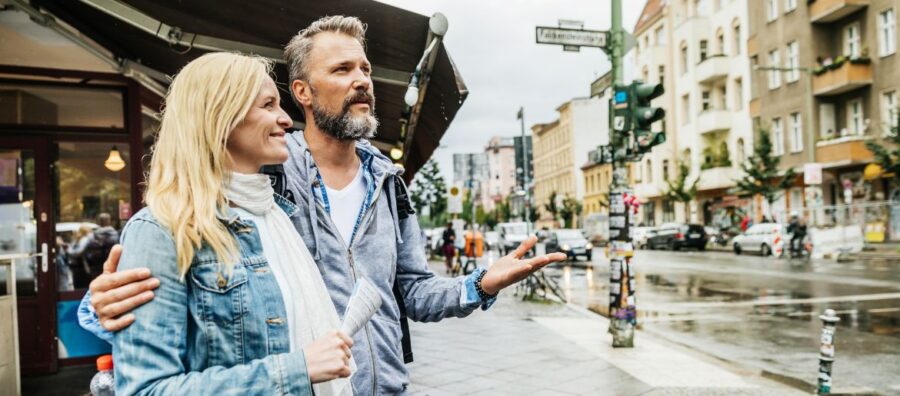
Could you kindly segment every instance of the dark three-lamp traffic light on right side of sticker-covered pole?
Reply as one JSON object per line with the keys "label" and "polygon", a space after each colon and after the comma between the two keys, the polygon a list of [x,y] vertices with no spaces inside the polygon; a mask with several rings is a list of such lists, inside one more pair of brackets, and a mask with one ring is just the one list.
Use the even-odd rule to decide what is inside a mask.
{"label": "dark three-lamp traffic light on right side of sticker-covered pole", "polygon": [[653,146],[666,141],[665,131],[654,132],[651,129],[654,122],[666,117],[666,111],[650,105],[650,101],[662,95],[665,89],[662,84],[644,84],[641,80],[635,80],[629,91],[628,107],[631,110],[635,146],[638,153],[648,153]]}

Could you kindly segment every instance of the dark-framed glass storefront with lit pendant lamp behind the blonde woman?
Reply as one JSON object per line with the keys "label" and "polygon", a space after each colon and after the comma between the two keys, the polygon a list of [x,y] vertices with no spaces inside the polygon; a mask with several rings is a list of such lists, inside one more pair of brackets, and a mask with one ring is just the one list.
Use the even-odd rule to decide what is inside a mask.
{"label": "dark-framed glass storefront with lit pendant lamp behind the blonde woman", "polygon": [[156,122],[141,97],[159,103],[142,91],[118,74],[0,66],[0,254],[37,255],[17,263],[25,374],[109,348],[77,324],[78,302],[102,272],[79,240],[84,247],[101,226],[118,232],[140,207],[134,159]]}

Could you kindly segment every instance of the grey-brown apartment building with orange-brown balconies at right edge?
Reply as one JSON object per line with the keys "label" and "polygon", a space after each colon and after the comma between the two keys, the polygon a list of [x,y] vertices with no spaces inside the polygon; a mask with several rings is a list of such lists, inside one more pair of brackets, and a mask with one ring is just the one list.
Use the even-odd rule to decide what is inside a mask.
{"label": "grey-brown apartment building with orange-brown balconies at right edge", "polygon": [[754,123],[772,137],[782,167],[823,169],[821,184],[798,178],[772,210],[900,199],[887,179],[863,172],[873,160],[865,143],[897,126],[900,2],[765,0],[749,11],[751,63],[785,69],[754,72]]}

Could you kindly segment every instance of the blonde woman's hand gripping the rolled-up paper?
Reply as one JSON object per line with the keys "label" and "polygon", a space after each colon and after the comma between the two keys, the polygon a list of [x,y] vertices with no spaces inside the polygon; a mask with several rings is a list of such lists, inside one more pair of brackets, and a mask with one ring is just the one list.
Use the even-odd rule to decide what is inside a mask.
{"label": "blonde woman's hand gripping the rolled-up paper", "polygon": [[350,348],[353,340],[340,331],[331,331],[304,348],[309,381],[331,381],[350,376]]}

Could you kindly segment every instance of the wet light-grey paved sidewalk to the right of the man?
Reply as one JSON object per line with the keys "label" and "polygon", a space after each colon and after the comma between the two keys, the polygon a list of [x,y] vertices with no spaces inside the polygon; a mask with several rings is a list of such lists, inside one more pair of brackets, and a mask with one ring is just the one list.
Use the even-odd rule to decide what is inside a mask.
{"label": "wet light-grey paved sidewalk to the right of the man", "polygon": [[800,395],[638,332],[613,349],[598,315],[511,292],[486,312],[411,323],[414,395]]}

